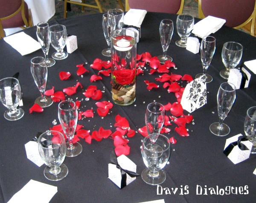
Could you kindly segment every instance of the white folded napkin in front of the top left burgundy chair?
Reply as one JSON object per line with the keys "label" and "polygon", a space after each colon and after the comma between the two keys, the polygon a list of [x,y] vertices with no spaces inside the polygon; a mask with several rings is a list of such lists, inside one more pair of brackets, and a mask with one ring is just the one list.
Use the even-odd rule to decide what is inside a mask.
{"label": "white folded napkin in front of the top left burgundy chair", "polygon": [[3,38],[9,45],[15,48],[22,56],[30,54],[41,48],[39,42],[25,34],[20,32]]}

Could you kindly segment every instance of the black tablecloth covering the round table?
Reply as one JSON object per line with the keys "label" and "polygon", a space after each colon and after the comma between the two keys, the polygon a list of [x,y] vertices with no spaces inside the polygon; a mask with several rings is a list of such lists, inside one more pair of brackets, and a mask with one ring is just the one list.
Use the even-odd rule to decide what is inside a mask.
{"label": "black tablecloth covering the round table", "polygon": [[[176,22],[175,14],[147,13],[141,27],[141,38],[138,43],[137,53],[149,52],[151,56],[162,54],[162,47],[159,37],[159,25],[162,19],[172,19]],[[195,20],[196,22],[198,20]],[[168,93],[162,87],[162,83],[156,82],[158,74],[148,74],[149,68],[144,70],[143,75],[137,77],[136,101],[130,106],[121,107],[114,104],[109,115],[101,117],[96,113],[96,100],[85,101],[82,94],[89,85],[96,85],[98,89],[104,90],[102,99],[99,101],[111,101],[110,77],[102,76],[103,80],[90,82],[90,76],[98,71],[90,68],[93,60],[100,58],[110,60],[102,56],[101,51],[107,47],[102,31],[102,14],[93,14],[82,17],[70,17],[59,19],[49,24],[63,24],[67,26],[68,34],[76,35],[78,50],[69,54],[67,59],[56,61],[53,67],[48,68],[47,89],[55,87],[55,91],[61,91],[65,87],[76,85],[81,82],[82,89],[73,96],[66,96],[73,100],[82,100],[80,111],[93,107],[94,118],[84,118],[78,124],[83,129],[99,130],[99,127],[115,131],[115,116],[120,115],[128,119],[131,129],[136,130],[136,135],[129,138],[131,147],[130,158],[137,165],[137,172],[141,173],[145,168],[141,157],[140,146],[143,136],[138,129],[145,126],[144,113],[146,105],[152,101],[162,104],[173,103],[176,98],[173,93]],[[175,23],[176,25],[176,23]],[[35,27],[24,30],[26,34],[36,39]],[[3,118],[6,108],[0,105],[0,202],[7,202],[18,192],[29,180],[37,180],[58,187],[58,192],[50,202],[143,202],[149,200],[164,199],[165,202],[253,202],[256,199],[256,176],[253,171],[256,168],[256,156],[250,155],[246,161],[233,164],[223,153],[225,141],[239,133],[244,133],[243,122],[246,110],[256,106],[255,87],[237,90],[235,104],[229,115],[224,120],[231,131],[225,137],[218,137],[210,133],[209,125],[218,121],[216,94],[218,87],[226,80],[219,76],[220,70],[224,69],[221,61],[221,50],[224,42],[236,41],[243,45],[244,52],[242,61],[255,59],[256,38],[233,28],[223,26],[215,34],[216,51],[207,73],[213,76],[213,81],[207,84],[207,104],[204,107],[191,113],[194,121],[186,125],[189,130],[188,137],[178,135],[173,124],[170,133],[165,133],[169,138],[175,137],[176,144],[172,144],[172,152],[169,164],[166,165],[166,181],[161,184],[162,188],[169,188],[171,194],[157,195],[157,186],[151,186],[138,177],[131,184],[123,189],[115,186],[108,179],[108,164],[110,153],[113,151],[113,139],[92,141],[87,144],[84,140],[82,153],[74,158],[66,158],[69,173],[66,178],[58,182],[52,182],[44,178],[45,166],[38,167],[26,158],[24,144],[30,141],[38,132],[49,130],[53,126],[52,121],[57,117],[58,103],[44,109],[43,113],[29,114],[39,91],[35,85],[30,72],[30,59],[35,56],[43,56],[38,50],[32,54],[21,56],[3,39],[0,40],[0,78],[9,77],[16,72],[20,73],[19,81],[23,91],[23,110],[25,115],[18,121],[7,121]],[[192,54],[185,48],[175,45],[179,39],[175,28],[171,45],[167,54],[173,57],[177,70],[172,69],[175,74],[190,74],[193,78],[197,73],[202,72],[200,54]],[[51,47],[49,53],[54,49]],[[50,55],[49,54],[49,55]],[[76,65],[88,62],[85,67],[90,73],[83,77],[76,75]],[[58,73],[69,71],[71,78],[61,81]],[[159,74],[161,75],[161,74]],[[155,82],[160,88],[148,91],[144,80]],[[185,86],[183,82],[181,85]],[[187,112],[185,113],[188,114]],[[59,124],[59,122],[58,122]],[[197,194],[197,188],[202,188],[202,195]],[[228,194],[229,188],[234,187],[234,193]],[[240,188],[239,188],[240,187]],[[176,192],[175,188],[177,188]],[[215,192],[224,189],[225,194],[210,194],[209,188]],[[204,190],[206,189],[206,190]],[[240,193],[239,193],[240,189]],[[205,195],[207,191],[207,195]],[[222,191],[222,190],[221,190]],[[38,199],[44,198],[44,191],[38,191]]]}

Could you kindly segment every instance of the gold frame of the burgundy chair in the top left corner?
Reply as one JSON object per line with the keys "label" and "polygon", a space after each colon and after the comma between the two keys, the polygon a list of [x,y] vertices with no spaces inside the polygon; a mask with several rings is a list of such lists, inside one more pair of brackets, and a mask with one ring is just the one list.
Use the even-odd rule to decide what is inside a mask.
{"label": "gold frame of the burgundy chair in the top left corner", "polygon": [[[5,37],[4,34],[4,30],[3,30],[3,25],[2,25],[2,20],[7,20],[11,17],[14,17],[15,15],[17,15],[19,12],[21,11],[21,16],[23,19],[24,24],[26,25],[26,27],[32,27],[33,26],[33,20],[32,20],[32,14],[31,14],[31,10],[29,9],[29,21],[26,19],[26,15],[25,15],[25,7],[24,7],[24,0],[21,0],[21,4],[20,7],[18,8],[17,11],[15,11],[13,14],[6,16],[6,17],[2,17],[0,18],[0,38]],[[25,29],[25,27],[21,26],[20,28]]]}

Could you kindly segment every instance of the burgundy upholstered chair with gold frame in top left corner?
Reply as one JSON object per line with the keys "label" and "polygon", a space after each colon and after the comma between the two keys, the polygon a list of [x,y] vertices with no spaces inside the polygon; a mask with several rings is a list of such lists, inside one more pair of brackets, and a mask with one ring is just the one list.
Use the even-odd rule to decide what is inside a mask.
{"label": "burgundy upholstered chair with gold frame in top left corner", "polygon": [[0,0],[0,38],[5,37],[6,28],[32,27],[32,15],[24,0]]}

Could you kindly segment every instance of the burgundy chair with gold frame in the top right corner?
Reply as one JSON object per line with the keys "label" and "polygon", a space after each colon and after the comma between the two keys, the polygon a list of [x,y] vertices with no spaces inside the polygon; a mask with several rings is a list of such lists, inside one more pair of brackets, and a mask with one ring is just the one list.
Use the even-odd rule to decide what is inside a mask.
{"label": "burgundy chair with gold frame in the top right corner", "polygon": [[250,23],[250,34],[254,36],[256,0],[198,0],[199,18],[209,15],[225,19],[225,25],[236,29]]}

